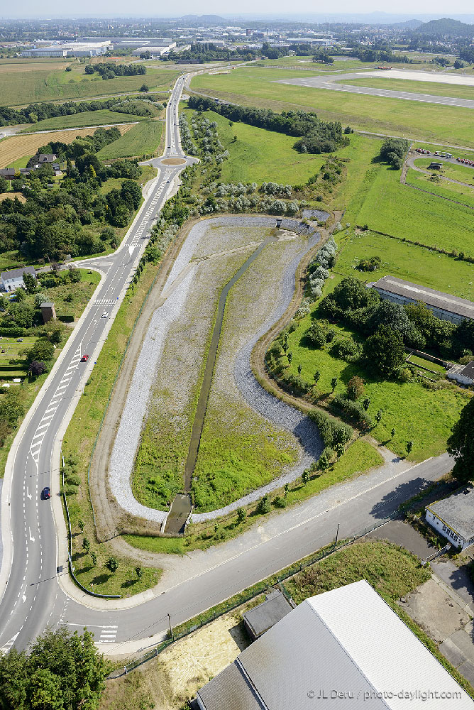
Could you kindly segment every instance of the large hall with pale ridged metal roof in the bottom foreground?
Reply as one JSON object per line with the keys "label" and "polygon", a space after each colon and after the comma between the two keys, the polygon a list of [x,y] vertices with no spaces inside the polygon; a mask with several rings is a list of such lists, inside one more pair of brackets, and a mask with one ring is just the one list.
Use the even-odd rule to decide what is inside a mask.
{"label": "large hall with pale ridged metal roof in the bottom foreground", "polygon": [[474,710],[365,580],[303,601],[197,694],[200,710]]}

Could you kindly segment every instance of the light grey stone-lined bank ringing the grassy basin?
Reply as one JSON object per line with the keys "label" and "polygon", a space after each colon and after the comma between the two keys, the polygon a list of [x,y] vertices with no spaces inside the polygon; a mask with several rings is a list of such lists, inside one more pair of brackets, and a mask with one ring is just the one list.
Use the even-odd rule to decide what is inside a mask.
{"label": "light grey stone-lined bank ringing the grassy basin", "polygon": [[[270,217],[241,217],[236,215],[236,217],[218,217],[213,219],[212,226],[235,226],[249,230],[255,227],[268,229],[275,226],[275,220]],[[284,219],[282,222],[282,229],[301,231],[299,227],[300,224],[296,220]],[[201,240],[208,231],[209,222],[207,221],[199,222],[199,224],[193,227],[172,267],[164,290],[166,290],[167,286],[172,284],[182,270],[192,261],[192,258],[197,256],[198,252],[200,253],[202,251]],[[302,231],[307,233],[309,229],[307,226],[304,226]],[[251,239],[252,236],[250,231],[248,238]],[[207,241],[207,239],[204,241]],[[272,315],[265,321],[262,327],[260,327],[258,332],[248,340],[241,351],[238,352],[233,373],[236,386],[246,400],[246,403],[248,403],[256,413],[265,417],[266,420],[297,437],[299,444],[302,446],[303,455],[300,457],[297,464],[292,465],[290,470],[271,481],[270,484],[258,488],[258,490],[252,493],[248,493],[248,495],[231,503],[231,505],[225,508],[220,508],[219,510],[214,510],[209,513],[197,513],[193,515],[192,519],[195,522],[218,518],[232,510],[236,510],[236,508],[240,506],[258,500],[258,498],[261,498],[265,493],[274,491],[275,488],[280,488],[287,482],[294,481],[294,479],[301,476],[302,471],[304,471],[312,461],[315,461],[321,455],[324,446],[314,423],[309,420],[309,417],[267,393],[255,380],[250,368],[250,352],[253,346],[268,328],[277,322],[285,312],[294,292],[294,277],[299,261],[301,261],[304,254],[312,249],[318,241],[319,234],[313,233],[312,236],[309,236],[305,249],[299,250],[297,255],[294,256],[287,266],[279,290],[280,300],[277,302]],[[118,426],[109,464],[111,493],[115,496],[118,504],[123,509],[127,510],[128,513],[136,515],[138,518],[153,520],[157,523],[162,523],[167,513],[148,508],[136,501],[131,489],[131,474],[136,451],[140,442],[143,421],[147,413],[148,400],[155,378],[155,371],[162,357],[165,339],[171,324],[175,322],[182,313],[195,272],[196,269],[191,268],[186,278],[180,283],[179,288],[170,293],[165,303],[159,307],[153,315],[143,342],[143,347],[140,351],[136,370],[133,374],[130,391],[128,393],[126,406],[121,415],[121,421]]]}

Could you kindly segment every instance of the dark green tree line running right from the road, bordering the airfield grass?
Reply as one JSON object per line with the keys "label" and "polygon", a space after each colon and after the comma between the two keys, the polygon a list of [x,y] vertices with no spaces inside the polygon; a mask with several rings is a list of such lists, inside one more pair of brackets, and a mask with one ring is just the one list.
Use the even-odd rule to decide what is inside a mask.
{"label": "dark green tree line running right from the road, bordering the airfield grass", "polygon": [[[282,111],[277,114],[272,109],[239,106],[238,104],[216,104],[214,99],[191,96],[190,109],[216,111],[229,121],[257,126],[267,131],[285,133],[286,136],[302,136],[294,148],[301,152],[323,153],[336,150],[344,144],[342,126],[338,121],[321,121],[314,113],[307,111]],[[347,129],[346,129],[347,130]],[[351,129],[348,129],[349,131]]]}

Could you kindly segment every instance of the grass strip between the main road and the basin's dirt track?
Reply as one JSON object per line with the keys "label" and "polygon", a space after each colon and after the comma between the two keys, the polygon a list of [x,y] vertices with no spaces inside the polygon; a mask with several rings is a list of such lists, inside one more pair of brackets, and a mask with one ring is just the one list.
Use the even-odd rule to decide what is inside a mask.
{"label": "grass strip between the main road and the basin's dirt track", "polygon": [[[87,487],[87,469],[106,403],[114,386],[133,323],[156,273],[157,267],[148,264],[138,285],[128,292],[118,309],[114,324],[97,359],[97,366],[94,367],[84,387],[84,395],[79,400],[62,444],[66,458],[73,456],[79,459],[77,475],[81,484],[78,492],[68,496],[67,499],[73,531],[75,573],[81,584],[100,594],[122,594],[123,596],[136,594],[138,591],[154,586],[160,577],[159,569],[147,567],[143,569],[142,579],[138,580],[134,571],[133,559],[121,557],[118,557],[118,571],[115,574],[108,572],[105,563],[114,553],[107,542],[101,543],[101,545],[95,544],[94,521]],[[84,535],[79,535],[79,520],[84,523]],[[92,566],[90,556],[83,554],[83,537],[87,537],[91,542],[92,550],[97,554],[95,567]]]}

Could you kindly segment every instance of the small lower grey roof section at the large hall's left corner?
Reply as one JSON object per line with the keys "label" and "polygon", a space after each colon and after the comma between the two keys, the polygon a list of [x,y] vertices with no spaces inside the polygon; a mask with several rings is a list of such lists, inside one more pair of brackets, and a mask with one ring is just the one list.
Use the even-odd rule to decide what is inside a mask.
{"label": "small lower grey roof section at the large hall's left corner", "polygon": [[224,668],[198,695],[206,710],[267,710],[238,662]]}

